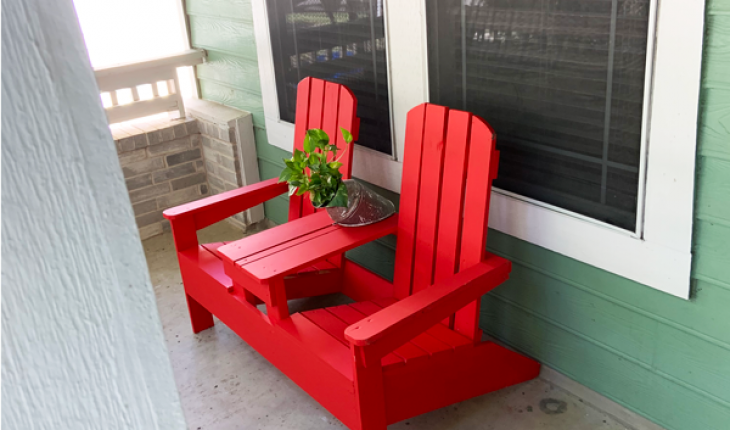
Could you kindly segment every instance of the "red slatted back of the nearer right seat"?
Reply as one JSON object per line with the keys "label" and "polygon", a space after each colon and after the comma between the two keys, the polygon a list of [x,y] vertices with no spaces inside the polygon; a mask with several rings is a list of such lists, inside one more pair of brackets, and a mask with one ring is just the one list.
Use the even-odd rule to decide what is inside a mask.
{"label": "red slatted back of the nearer right seat", "polygon": [[[397,298],[484,259],[498,159],[495,134],[483,119],[429,103],[408,113],[394,276]],[[456,329],[470,336],[478,331],[478,303],[473,307],[456,321]]]}

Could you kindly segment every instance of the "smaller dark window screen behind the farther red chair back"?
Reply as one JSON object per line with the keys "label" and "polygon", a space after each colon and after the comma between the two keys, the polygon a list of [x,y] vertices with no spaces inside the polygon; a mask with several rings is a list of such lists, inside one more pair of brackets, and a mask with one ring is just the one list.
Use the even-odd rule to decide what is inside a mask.
{"label": "smaller dark window screen behind the farther red chair back", "polygon": [[391,155],[383,0],[267,0],[281,119],[294,122],[306,77],[357,97],[358,144]]}

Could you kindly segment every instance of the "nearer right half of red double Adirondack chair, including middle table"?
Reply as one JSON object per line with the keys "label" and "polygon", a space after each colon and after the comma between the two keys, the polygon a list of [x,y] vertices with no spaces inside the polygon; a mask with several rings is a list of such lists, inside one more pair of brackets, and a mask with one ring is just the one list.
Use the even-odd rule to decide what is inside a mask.
{"label": "nearer right half of red double Adirondack chair, including middle table", "polygon": [[[485,250],[498,166],[492,130],[470,113],[423,104],[408,114],[405,150],[397,216],[343,228],[315,213],[222,246],[230,289],[202,268],[200,247],[178,242],[188,234],[179,232],[208,225],[199,209],[167,215],[194,330],[210,326],[212,312],[352,429],[383,430],[539,372],[482,341],[478,327],[481,296],[511,270]],[[398,236],[392,283],[340,257],[332,282],[354,303],[289,314],[288,283],[307,279],[303,269],[387,234]]]}

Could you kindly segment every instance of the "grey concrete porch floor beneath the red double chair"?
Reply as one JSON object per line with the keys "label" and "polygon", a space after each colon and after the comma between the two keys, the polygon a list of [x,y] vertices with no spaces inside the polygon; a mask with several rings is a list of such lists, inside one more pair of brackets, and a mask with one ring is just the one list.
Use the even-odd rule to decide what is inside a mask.
{"label": "grey concrete porch floor beneath the red double chair", "polygon": [[[219,223],[199,232],[201,243],[236,240],[240,230]],[[194,335],[170,233],[143,242],[175,380],[190,429],[345,429],[334,416],[233,331]],[[583,399],[538,378],[402,421],[390,429],[619,430],[628,429]]]}

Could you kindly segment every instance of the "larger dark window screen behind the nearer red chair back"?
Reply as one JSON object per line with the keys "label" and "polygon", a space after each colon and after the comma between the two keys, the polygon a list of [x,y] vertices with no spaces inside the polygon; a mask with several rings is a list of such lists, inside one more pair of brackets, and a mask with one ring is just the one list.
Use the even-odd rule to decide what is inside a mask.
{"label": "larger dark window screen behind the nearer red chair back", "polygon": [[427,0],[431,101],[497,132],[495,186],[636,228],[649,0]]}

